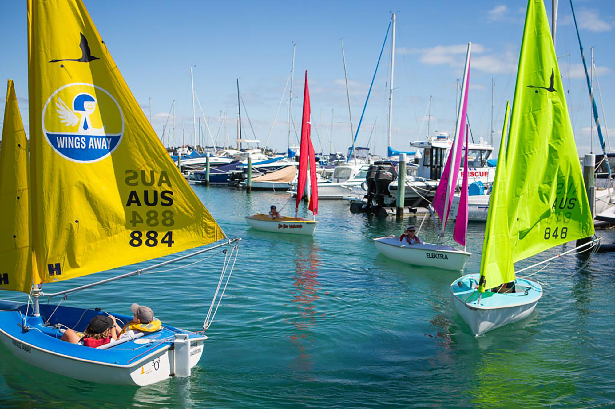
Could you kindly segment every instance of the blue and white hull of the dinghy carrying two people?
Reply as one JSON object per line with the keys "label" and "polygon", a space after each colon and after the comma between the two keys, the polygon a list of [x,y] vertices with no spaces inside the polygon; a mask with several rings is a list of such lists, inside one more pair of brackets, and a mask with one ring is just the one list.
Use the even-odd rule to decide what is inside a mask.
{"label": "blue and white hull of the dinghy carrying two people", "polygon": [[[189,335],[189,365],[194,367],[203,354],[207,339],[202,333],[192,333],[164,325],[163,329],[108,349],[89,348],[62,341],[62,332],[54,327],[63,324],[75,330],[85,329],[100,310],[42,305],[41,316],[29,309],[26,329],[22,330],[27,306],[0,300],[0,340],[7,349],[30,365],[49,372],[95,383],[145,386],[175,375],[173,335]],[[115,315],[123,322],[132,317]]]}

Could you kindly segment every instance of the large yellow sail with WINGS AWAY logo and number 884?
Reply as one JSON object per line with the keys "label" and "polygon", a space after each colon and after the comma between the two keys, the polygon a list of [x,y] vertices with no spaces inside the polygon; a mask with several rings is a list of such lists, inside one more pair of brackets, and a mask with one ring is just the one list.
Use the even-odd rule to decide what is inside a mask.
{"label": "large yellow sail with WINGS AWAY logo and number 884", "polygon": [[28,0],[28,67],[33,248],[42,282],[224,237],[81,1]]}

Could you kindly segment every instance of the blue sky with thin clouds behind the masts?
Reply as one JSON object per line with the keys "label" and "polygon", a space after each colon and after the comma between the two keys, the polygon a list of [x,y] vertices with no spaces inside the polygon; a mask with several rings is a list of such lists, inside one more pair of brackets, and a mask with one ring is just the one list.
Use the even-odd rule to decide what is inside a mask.
{"label": "blue sky with thin clouds behind the masts", "polygon": [[[550,4],[547,0],[549,14]],[[497,147],[506,99],[512,99],[514,93],[526,2],[88,0],[85,5],[148,117],[151,98],[157,134],[162,134],[173,99],[177,101],[178,142],[182,126],[186,142],[193,138],[189,68],[194,66],[195,90],[213,137],[217,134],[220,141],[226,134],[229,141],[235,139],[239,77],[245,110],[256,138],[264,143],[290,74],[295,42],[292,116],[300,127],[303,76],[308,69],[312,139],[317,150],[322,146],[328,152],[330,140],[333,150],[338,151],[345,151],[351,144],[340,39],[344,39],[356,130],[391,10],[397,13],[392,146],[407,149],[408,142],[424,138],[430,96],[431,133],[453,131],[456,79],[462,75],[466,44],[472,41],[468,109],[472,133],[475,139],[482,137],[488,141],[490,137],[493,78]],[[609,118],[615,107],[615,2],[575,0],[574,7],[586,58],[589,47],[595,46],[606,122],[613,122],[615,138],[615,118]],[[27,130],[25,1],[3,2],[0,36],[0,77],[15,80]],[[557,55],[561,56],[560,71],[569,91],[568,106],[577,146],[582,154],[590,150],[591,114],[568,1],[560,0],[556,42]],[[359,145],[369,141],[376,154],[386,152],[390,60],[389,36],[357,140]],[[2,92],[1,112],[4,95]],[[288,90],[269,139],[269,146],[278,150],[285,150],[288,144],[287,100]],[[198,121],[198,106],[196,110]],[[209,138],[203,119],[201,124],[204,138]],[[242,125],[247,137],[253,138],[243,106]],[[595,130],[593,134],[595,137]],[[293,131],[291,144],[296,143],[295,138]],[[593,150],[597,151],[595,140]]]}

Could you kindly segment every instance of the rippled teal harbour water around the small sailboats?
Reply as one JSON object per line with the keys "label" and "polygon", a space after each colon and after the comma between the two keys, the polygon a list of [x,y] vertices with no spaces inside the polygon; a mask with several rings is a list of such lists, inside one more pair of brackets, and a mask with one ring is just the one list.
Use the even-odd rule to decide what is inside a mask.
{"label": "rippled teal harbour water around the small sailboats", "polygon": [[[615,405],[614,254],[595,255],[558,286],[548,284],[582,262],[573,256],[550,264],[536,276],[547,285],[528,319],[475,338],[451,299],[449,285],[458,273],[395,262],[372,242],[420,224],[422,216],[397,222],[351,214],[345,201],[322,200],[313,238],[277,235],[252,230],[244,216],[271,204],[282,208],[286,193],[194,190],[226,234],[243,241],[191,378],[144,388],[92,384],[31,367],[0,346],[1,407]],[[292,213],[289,203],[282,214]],[[307,215],[304,206],[301,213]],[[469,226],[468,272],[480,266],[483,230],[484,224]],[[613,231],[598,235],[615,241]],[[421,236],[434,238],[429,220]],[[63,305],[130,314],[130,304],[138,302],[163,322],[199,330],[221,262],[216,256],[116,281],[74,294]]]}

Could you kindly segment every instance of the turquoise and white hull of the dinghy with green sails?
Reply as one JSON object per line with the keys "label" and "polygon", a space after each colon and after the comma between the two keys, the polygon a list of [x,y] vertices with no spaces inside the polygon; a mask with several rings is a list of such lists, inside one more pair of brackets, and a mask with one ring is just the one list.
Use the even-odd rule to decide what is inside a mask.
{"label": "turquoise and white hull of the dinghy with green sails", "polygon": [[533,313],[542,297],[541,285],[525,278],[515,279],[518,292],[484,292],[478,303],[478,274],[469,274],[451,284],[455,308],[474,335],[482,335],[502,325],[517,322]]}

